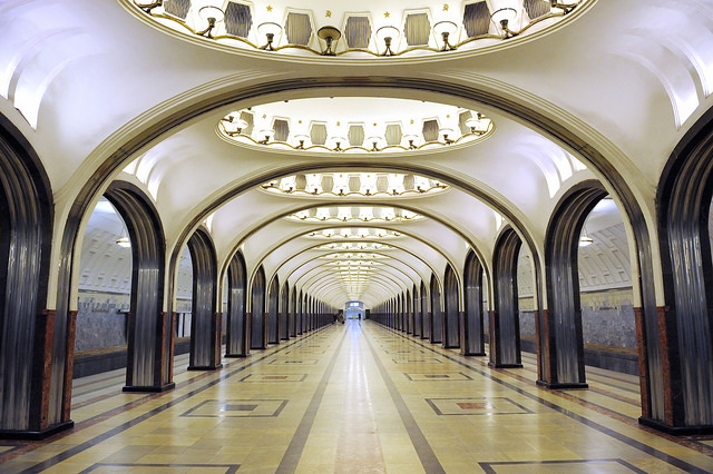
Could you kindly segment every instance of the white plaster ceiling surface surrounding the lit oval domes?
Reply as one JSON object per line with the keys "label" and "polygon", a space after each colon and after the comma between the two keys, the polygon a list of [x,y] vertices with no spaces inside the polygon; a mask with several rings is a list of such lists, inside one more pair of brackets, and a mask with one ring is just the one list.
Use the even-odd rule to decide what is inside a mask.
{"label": "white plaster ceiling surface surrounding the lit oval domes", "polygon": [[[229,52],[206,39],[172,36],[115,1],[6,1],[0,6],[0,112],[35,147],[56,197],[48,306],[56,297],[58,241],[69,208],[91,175],[125,144],[218,93],[281,80],[354,77],[438,80],[538,111],[587,140],[614,166],[639,200],[655,238],[653,197],[663,166],[683,134],[713,105],[713,7],[696,0],[600,0],[547,34],[512,38],[484,50],[418,59],[295,60],[266,51]],[[472,146],[373,157],[245,149],[216,134],[216,124],[232,110],[331,96],[411,98],[482,110],[496,131]],[[120,177],[120,170],[134,162],[127,171],[153,195],[169,255],[185,244],[188,227],[212,216],[209,228],[222,267],[240,247],[251,273],[262,261],[268,278],[279,271],[284,283],[306,271],[300,269],[302,256],[310,255],[303,250],[312,241],[300,237],[309,226],[282,216],[339,200],[268,196],[252,185],[294,169],[338,170],[352,161],[362,169],[373,164],[384,170],[447,176],[456,185],[437,197],[373,200],[432,216],[383,226],[408,234],[403,241],[412,253],[402,257],[420,278],[427,277],[427,268],[441,278],[447,261],[462,277],[470,246],[489,268],[495,239],[508,216],[521,224],[519,231],[530,237],[534,253],[541,254],[547,223],[561,194],[578,181],[602,177],[584,168],[588,164],[578,150],[563,149],[516,111],[445,93],[349,87],[285,90],[186,113],[179,126],[127,157],[113,176]],[[606,182],[605,187],[611,190]],[[611,235],[628,239],[614,245],[622,253],[631,250],[628,228],[625,220],[623,230]],[[106,235],[89,237],[92,229]],[[101,239],[110,243],[115,237],[108,229],[90,220],[85,240],[96,248]],[[423,263],[411,261],[413,255]],[[394,264],[399,265],[403,264]],[[75,271],[84,267],[80,263]],[[329,303],[341,306],[342,296]],[[373,304],[381,299],[369,297]]]}

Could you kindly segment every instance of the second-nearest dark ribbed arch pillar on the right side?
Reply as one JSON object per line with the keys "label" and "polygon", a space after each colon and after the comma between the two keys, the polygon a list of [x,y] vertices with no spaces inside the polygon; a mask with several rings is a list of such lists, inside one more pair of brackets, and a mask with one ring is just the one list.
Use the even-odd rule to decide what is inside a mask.
{"label": "second-nearest dark ribbed arch pillar on the right side", "polygon": [[587,216],[607,195],[598,181],[585,181],[563,196],[547,225],[545,266],[547,309],[540,312],[540,384],[586,388],[579,270],[579,235]]}

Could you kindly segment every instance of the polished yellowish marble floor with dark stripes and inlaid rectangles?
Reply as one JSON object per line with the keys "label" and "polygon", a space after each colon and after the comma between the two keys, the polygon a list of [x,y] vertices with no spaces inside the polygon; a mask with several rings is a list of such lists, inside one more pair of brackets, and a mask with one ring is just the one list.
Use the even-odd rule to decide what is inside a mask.
{"label": "polished yellowish marble floor with dark stripes and inlaid rectangles", "polygon": [[72,431],[0,441],[0,472],[713,472],[712,437],[639,426],[636,377],[587,367],[587,391],[535,385],[369,322],[300,336],[176,388],[120,392],[123,371],[75,381]]}

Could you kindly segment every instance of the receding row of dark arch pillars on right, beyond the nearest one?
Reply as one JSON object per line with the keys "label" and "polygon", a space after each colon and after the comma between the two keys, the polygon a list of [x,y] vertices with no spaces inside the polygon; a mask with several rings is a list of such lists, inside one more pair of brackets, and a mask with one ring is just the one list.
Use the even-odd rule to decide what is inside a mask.
{"label": "receding row of dark arch pillars on right, beyond the nearest one", "polygon": [[[582,229],[589,213],[607,192],[598,181],[573,187],[561,198],[549,224],[546,241],[547,309],[536,314],[538,383],[550,388],[586,388],[584,340],[580,309],[578,249]],[[398,330],[428,338],[445,348],[461,348],[463,355],[485,355],[484,326],[490,328],[490,364],[495,367],[521,367],[520,302],[518,264],[522,240],[509,226],[499,234],[492,261],[494,304],[484,313],[485,266],[475,251],[466,257],[462,294],[457,273],[449,264],[442,276],[442,289],[436,275],[430,285],[421,284],[420,296],[414,285],[414,300],[427,302],[419,313],[403,302],[409,292],[375,309],[380,323]],[[534,276],[537,279],[539,271]],[[538,287],[537,284],[534,285]],[[484,292],[486,293],[484,295]],[[462,305],[461,305],[462,298]],[[534,295],[536,308],[539,295]],[[442,303],[441,303],[442,302]],[[462,312],[460,310],[462,308]],[[413,326],[402,322],[416,319]],[[423,328],[421,330],[412,329]],[[643,375],[644,377],[647,374]]]}

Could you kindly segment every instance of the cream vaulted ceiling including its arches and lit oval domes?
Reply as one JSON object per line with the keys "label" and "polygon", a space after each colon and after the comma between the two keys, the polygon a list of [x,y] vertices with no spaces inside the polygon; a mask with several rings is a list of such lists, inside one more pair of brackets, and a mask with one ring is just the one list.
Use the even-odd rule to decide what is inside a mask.
{"label": "cream vaulted ceiling including its arches and lit oval domes", "polygon": [[[213,2],[225,14],[229,7],[235,24],[250,12],[245,38],[256,46],[268,7],[282,27],[275,46],[304,33],[289,28],[290,12],[306,14],[318,53],[196,34],[152,16],[197,1],[164,3],[150,14],[131,0],[0,4],[0,112],[47,169],[58,235],[72,205],[89,201],[86,274],[77,278],[87,288],[127,285],[117,275],[130,258],[100,263],[120,251],[111,247],[118,221],[89,217],[116,179],[154,200],[169,258],[179,260],[191,233],[206,226],[219,267],[240,250],[251,275],[262,265],[268,278],[340,307],[377,305],[431,273],[442,278],[448,264],[462,276],[471,249],[489,275],[506,225],[541,256],[563,194],[600,179],[613,199],[588,224],[600,244],[585,250],[584,282],[631,284],[621,261],[632,250],[629,224],[616,190],[628,187],[653,223],[666,159],[713,105],[713,7],[703,0],[587,0],[511,38],[490,21],[486,37],[456,50],[440,51],[431,34],[410,52],[404,38],[426,23],[408,27],[409,14],[428,13],[429,28],[453,21],[461,43],[471,37],[468,6],[480,2],[397,2],[389,11],[336,2],[330,16],[316,2]],[[492,13],[511,2],[485,3]],[[526,26],[535,3],[515,3]],[[385,12],[401,42],[383,57],[375,32]],[[352,17],[369,21],[356,28]],[[336,56],[319,53],[324,26],[345,34]],[[372,52],[348,51],[348,38]],[[471,129],[466,120],[479,117],[487,127]],[[390,218],[363,218],[382,215]]]}

